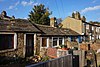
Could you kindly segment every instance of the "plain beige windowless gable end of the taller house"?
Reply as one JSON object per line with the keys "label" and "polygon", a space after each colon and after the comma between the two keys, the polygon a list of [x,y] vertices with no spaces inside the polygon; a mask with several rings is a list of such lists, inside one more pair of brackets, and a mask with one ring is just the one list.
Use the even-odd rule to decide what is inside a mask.
{"label": "plain beige windowless gable end of the taller house", "polygon": [[61,22],[61,24],[63,25],[62,28],[70,28],[79,34],[83,33],[84,26],[81,20],[67,17],[64,21]]}

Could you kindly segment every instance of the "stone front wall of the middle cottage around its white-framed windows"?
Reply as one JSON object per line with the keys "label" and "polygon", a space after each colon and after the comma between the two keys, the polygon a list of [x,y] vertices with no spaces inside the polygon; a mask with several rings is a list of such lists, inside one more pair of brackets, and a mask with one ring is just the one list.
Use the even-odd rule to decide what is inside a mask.
{"label": "stone front wall of the middle cottage around its white-framed windows", "polygon": [[[44,38],[44,37],[43,37]],[[47,47],[42,47],[41,45],[42,45],[42,41],[41,41],[41,39],[42,39],[42,37],[38,37],[38,43],[37,43],[37,52],[38,52],[38,54],[40,54],[41,56],[46,56],[46,53],[47,53],[47,48],[48,47],[52,47],[52,48],[56,48],[56,47],[58,47],[59,46],[59,43],[57,43],[57,46],[53,46],[53,37],[45,37],[45,38],[49,38],[49,40],[47,41],[48,43],[47,43]],[[56,37],[56,38],[59,38],[59,37]],[[70,40],[69,40],[69,38],[70,37],[62,37],[63,38],[63,40],[62,40],[62,45],[67,45],[67,48],[72,48],[72,47],[78,47],[78,38],[76,39],[77,40],[77,42],[71,42]],[[58,39],[59,40],[59,39]],[[57,42],[59,42],[57,40]],[[40,46],[39,46],[40,45]]]}

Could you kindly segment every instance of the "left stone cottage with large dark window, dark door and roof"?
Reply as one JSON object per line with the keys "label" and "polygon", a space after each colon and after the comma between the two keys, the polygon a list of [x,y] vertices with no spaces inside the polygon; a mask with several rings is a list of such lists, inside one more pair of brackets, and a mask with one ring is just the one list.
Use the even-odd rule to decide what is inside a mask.
{"label": "left stone cottage with large dark window, dark door and roof", "polygon": [[34,55],[37,33],[40,31],[27,20],[0,20],[0,56]]}

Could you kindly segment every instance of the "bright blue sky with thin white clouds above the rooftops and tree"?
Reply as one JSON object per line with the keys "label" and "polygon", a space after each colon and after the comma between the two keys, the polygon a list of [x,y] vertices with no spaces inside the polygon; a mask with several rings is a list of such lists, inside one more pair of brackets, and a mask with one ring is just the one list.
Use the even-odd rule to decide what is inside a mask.
{"label": "bright blue sky with thin white clouds above the rooftops and tree", "polygon": [[100,22],[100,0],[0,0],[0,13],[5,10],[8,16],[26,19],[33,6],[39,4],[49,8],[50,17],[64,20],[78,11],[87,21]]}

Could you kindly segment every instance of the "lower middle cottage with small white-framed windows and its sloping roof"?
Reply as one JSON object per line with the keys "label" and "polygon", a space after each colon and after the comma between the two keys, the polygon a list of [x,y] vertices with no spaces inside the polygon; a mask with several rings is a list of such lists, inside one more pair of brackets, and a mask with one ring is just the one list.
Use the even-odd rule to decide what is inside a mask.
{"label": "lower middle cottage with small white-framed windows and its sloping roof", "polygon": [[[35,24],[36,28],[41,31],[41,34],[37,34],[37,52],[38,54],[45,55],[48,47],[58,47],[60,45],[67,45],[70,48],[72,45],[69,42],[79,42],[78,36],[80,34],[76,33],[71,29],[56,28],[46,25]],[[74,44],[74,46],[76,46]],[[78,47],[78,44],[77,44]]]}

